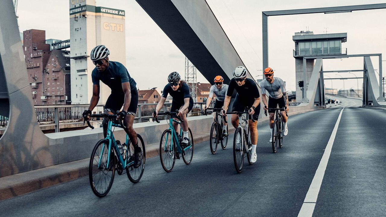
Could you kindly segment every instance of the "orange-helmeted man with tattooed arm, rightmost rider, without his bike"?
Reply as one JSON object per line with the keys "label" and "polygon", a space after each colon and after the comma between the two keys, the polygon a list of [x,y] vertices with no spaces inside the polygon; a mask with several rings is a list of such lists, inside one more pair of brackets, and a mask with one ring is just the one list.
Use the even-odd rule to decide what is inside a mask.
{"label": "orange-helmeted man with tattooed arm, rightmost rider, without his bike", "polygon": [[[284,108],[286,111],[288,111],[288,95],[287,95],[286,87],[284,86],[283,80],[281,80],[281,78],[273,76],[272,68],[266,68],[264,70],[264,76],[266,77],[266,79],[260,82],[261,96],[262,96],[262,102],[265,105],[264,110],[268,110],[268,113],[269,113],[269,129],[271,130],[271,135],[272,135],[273,119],[274,119],[275,111],[268,108],[276,108],[279,105],[279,108]],[[266,92],[268,92],[269,94],[268,103],[266,99]],[[284,122],[283,135],[287,136],[288,117],[286,116],[284,109],[280,109],[280,114]],[[271,136],[271,139],[269,139],[269,142],[272,142],[272,136]]]}

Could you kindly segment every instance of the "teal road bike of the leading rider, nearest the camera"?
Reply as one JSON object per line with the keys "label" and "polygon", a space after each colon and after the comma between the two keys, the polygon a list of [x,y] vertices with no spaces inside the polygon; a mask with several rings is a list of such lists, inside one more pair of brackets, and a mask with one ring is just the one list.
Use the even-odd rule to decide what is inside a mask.
{"label": "teal road bike of the leading rider, nearest the camera", "polygon": [[[120,120],[120,124],[114,122],[117,119],[117,114],[91,114],[90,117],[108,119],[107,136],[95,145],[89,165],[91,189],[98,197],[104,197],[113,185],[115,170],[117,170],[118,175],[124,174],[124,170],[126,170],[125,173],[132,183],[137,183],[141,179],[146,160],[145,144],[142,137],[137,134],[138,145],[143,154],[140,158],[141,165],[134,168],[134,145],[129,140],[129,136],[126,134],[125,143],[120,144],[120,141],[115,140],[113,135],[113,127],[114,129],[115,127],[126,129],[122,120]],[[84,120],[84,122],[86,121],[88,126],[94,129],[90,125],[90,121]]]}

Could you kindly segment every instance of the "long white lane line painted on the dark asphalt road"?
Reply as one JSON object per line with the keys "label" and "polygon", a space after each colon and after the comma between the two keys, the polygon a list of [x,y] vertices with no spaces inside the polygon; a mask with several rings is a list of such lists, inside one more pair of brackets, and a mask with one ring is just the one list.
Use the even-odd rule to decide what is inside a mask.
{"label": "long white lane line painted on the dark asphalt road", "polygon": [[316,200],[318,198],[320,186],[322,185],[324,172],[326,171],[326,168],[327,168],[328,158],[330,158],[332,144],[334,144],[335,136],[337,134],[337,130],[338,130],[340,118],[342,117],[343,110],[344,108],[340,110],[338,120],[335,124],[334,129],[332,130],[330,139],[327,142],[326,149],[324,151],[322,159],[320,160],[318,169],[315,172],[315,176],[311,182],[310,188],[308,189],[303,205],[300,208],[298,217],[312,217],[313,210],[316,205]]}

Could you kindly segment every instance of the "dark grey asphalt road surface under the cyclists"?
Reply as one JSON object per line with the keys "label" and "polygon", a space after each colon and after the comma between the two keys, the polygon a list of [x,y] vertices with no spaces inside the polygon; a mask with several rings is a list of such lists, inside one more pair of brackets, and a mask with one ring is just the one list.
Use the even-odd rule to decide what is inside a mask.
{"label": "dark grey asphalt road surface under the cyclists", "polygon": [[[289,117],[283,148],[272,153],[269,127],[259,125],[257,162],[237,174],[227,149],[196,144],[193,161],[166,173],[146,161],[132,184],[115,176],[104,198],[88,177],[0,201],[0,216],[297,216],[342,107]],[[344,108],[313,216],[384,216],[386,111]]]}

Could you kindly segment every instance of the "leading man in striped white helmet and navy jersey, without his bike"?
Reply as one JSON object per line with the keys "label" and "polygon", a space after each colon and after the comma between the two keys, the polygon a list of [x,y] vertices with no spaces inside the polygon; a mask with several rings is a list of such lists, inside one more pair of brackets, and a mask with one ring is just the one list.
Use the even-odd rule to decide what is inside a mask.
{"label": "leading man in striped white helmet and navy jersey, without his bike", "polygon": [[[134,144],[134,167],[138,168],[141,166],[142,150],[138,146],[137,133],[133,129],[134,115],[137,112],[138,105],[137,83],[122,63],[109,61],[109,54],[110,51],[104,45],[96,46],[91,50],[90,58],[96,66],[91,73],[93,96],[88,110],[83,112],[83,117],[90,120],[91,111],[99,101],[99,81],[102,81],[111,88],[111,94],[107,98],[104,113],[115,114],[116,111],[120,111],[117,120],[122,119],[127,127],[125,131]],[[122,105],[123,109],[121,110]],[[107,123],[108,120],[103,119],[103,135],[105,137],[107,135]]]}

